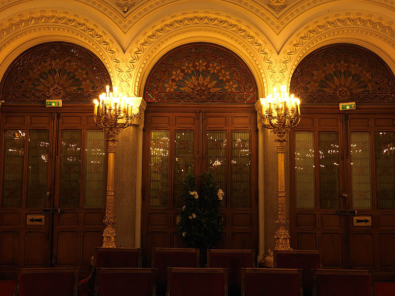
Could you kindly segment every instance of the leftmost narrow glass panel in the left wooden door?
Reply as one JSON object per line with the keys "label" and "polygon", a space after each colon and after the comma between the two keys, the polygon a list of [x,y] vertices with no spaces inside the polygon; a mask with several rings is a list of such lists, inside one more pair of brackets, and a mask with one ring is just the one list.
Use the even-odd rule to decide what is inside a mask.
{"label": "leftmost narrow glass panel in the left wooden door", "polygon": [[22,205],[23,162],[25,156],[25,131],[5,130],[3,160],[3,207]]}

